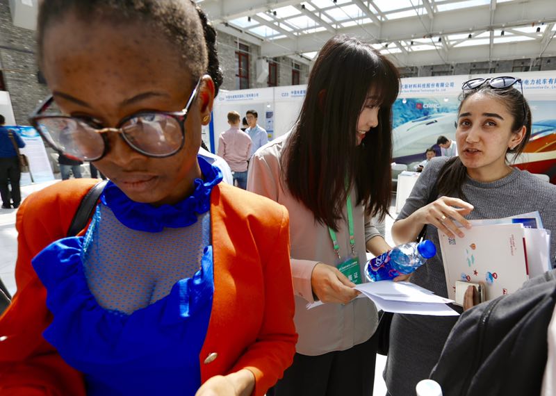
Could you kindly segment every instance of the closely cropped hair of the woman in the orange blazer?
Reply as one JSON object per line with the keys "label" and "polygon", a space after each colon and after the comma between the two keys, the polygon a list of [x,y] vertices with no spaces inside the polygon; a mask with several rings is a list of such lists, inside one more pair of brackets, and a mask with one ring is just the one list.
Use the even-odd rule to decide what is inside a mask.
{"label": "closely cropped hair of the woman in the orange blazer", "polygon": [[[193,17],[194,14],[190,12],[192,7],[197,10],[197,17]],[[115,13],[106,13],[106,10]],[[44,32],[51,23],[70,12],[83,22],[93,19],[110,20],[118,24],[136,19],[152,22],[167,38],[176,42],[183,53],[187,53],[182,58],[193,75],[193,81],[202,74],[210,75],[214,81],[215,94],[218,94],[222,85],[222,71],[216,51],[216,31],[193,0],[42,0],[37,24],[40,64],[43,59]]]}

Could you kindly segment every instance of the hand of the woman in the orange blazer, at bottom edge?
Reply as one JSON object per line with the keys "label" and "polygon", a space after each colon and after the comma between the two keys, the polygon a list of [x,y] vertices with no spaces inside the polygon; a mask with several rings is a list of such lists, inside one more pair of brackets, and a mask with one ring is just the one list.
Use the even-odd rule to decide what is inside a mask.
{"label": "hand of the woman in the orange blazer, at bottom edge", "polygon": [[239,370],[228,375],[209,378],[195,396],[249,396],[255,387],[255,377],[250,370]]}

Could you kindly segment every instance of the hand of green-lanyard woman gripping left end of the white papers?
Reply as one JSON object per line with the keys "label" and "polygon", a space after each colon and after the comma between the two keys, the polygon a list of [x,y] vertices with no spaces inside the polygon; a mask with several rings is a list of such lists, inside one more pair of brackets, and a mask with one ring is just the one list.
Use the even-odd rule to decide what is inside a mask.
{"label": "hand of green-lanyard woman gripping left end of the white papers", "polygon": [[347,304],[359,295],[351,282],[338,268],[318,263],[311,274],[313,293],[322,302]]}

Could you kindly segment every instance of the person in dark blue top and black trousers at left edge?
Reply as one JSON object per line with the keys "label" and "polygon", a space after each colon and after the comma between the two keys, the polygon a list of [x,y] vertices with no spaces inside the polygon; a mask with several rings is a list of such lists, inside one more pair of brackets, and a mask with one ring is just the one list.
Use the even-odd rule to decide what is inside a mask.
{"label": "person in dark blue top and black trousers at left edge", "polygon": [[[13,136],[17,147],[25,147],[25,142],[15,131],[10,131],[5,126],[6,119],[0,114],[0,195],[2,197],[2,208],[18,208],[22,201],[21,191],[19,190],[19,179],[21,170],[19,169],[19,158],[17,151],[13,147]],[[10,192],[11,187],[11,192]]]}

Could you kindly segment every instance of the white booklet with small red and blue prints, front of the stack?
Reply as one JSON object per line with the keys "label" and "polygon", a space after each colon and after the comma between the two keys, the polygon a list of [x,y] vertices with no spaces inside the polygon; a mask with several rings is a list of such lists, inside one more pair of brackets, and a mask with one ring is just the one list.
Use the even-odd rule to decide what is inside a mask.
{"label": "white booklet with small red and blue prints, front of the stack", "polygon": [[464,238],[439,232],[448,297],[455,282],[482,282],[487,300],[512,293],[528,280],[525,227],[515,224],[474,225]]}

